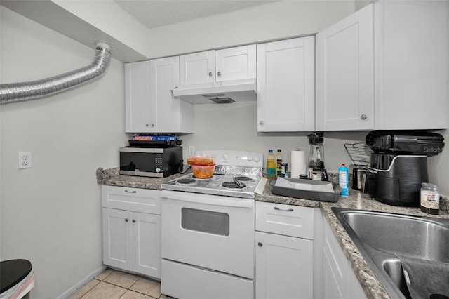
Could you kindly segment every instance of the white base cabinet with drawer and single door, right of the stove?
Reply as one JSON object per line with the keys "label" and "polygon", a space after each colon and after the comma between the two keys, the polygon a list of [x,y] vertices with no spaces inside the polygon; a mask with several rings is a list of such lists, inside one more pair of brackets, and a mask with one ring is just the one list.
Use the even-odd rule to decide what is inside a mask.
{"label": "white base cabinet with drawer and single door, right of the stove", "polygon": [[313,298],[314,208],[255,209],[255,298]]}

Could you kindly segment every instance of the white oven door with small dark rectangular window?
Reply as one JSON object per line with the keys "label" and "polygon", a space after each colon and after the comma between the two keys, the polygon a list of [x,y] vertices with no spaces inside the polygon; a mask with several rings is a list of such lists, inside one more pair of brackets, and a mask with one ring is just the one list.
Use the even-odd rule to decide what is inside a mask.
{"label": "white oven door with small dark rectangular window", "polygon": [[254,199],[163,190],[166,260],[254,278]]}

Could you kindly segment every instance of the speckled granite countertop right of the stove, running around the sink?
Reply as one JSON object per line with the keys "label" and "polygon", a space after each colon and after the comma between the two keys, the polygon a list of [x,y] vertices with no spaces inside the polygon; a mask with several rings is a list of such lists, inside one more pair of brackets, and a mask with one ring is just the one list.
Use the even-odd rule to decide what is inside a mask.
{"label": "speckled granite countertop right of the stove, running around the sink", "polygon": [[340,197],[335,203],[323,202],[323,201],[313,201],[307,199],[296,199],[293,197],[282,197],[276,194],[272,194],[271,187],[267,183],[264,188],[263,194],[257,194],[255,197],[256,201],[267,201],[276,204],[290,204],[295,206],[309,206],[312,208],[320,207],[323,217],[326,219],[330,225],[331,230],[334,232],[344,255],[346,255],[354,274],[358,281],[360,282],[363,290],[368,298],[390,298],[387,291],[385,291],[380,281],[375,276],[373,270],[366,262],[365,258],[358,251],[357,247],[352,242],[351,238],[344,230],[340,221],[337,220],[335,214],[330,209],[332,207],[340,208],[354,208],[357,210],[366,211],[379,211],[385,213],[399,213],[406,215],[418,215],[427,217],[437,217],[437,218],[447,218],[448,214],[448,199],[441,199],[441,211],[440,215],[429,215],[422,213],[420,208],[406,208],[398,206],[389,206],[387,204],[382,204],[375,199],[371,199],[367,194],[363,194],[356,190],[350,190],[349,197]]}

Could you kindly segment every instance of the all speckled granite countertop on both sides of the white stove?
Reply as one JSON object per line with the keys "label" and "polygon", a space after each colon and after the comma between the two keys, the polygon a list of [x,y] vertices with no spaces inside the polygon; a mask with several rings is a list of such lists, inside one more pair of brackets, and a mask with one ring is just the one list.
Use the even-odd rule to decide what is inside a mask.
{"label": "all speckled granite countertop on both sides of the white stove", "polygon": [[[97,182],[100,185],[135,187],[154,190],[162,190],[161,184],[180,176],[180,174],[175,174],[170,175],[167,178],[145,178],[130,175],[120,175],[119,168],[112,168],[107,170],[98,168],[97,170]],[[337,241],[340,244],[342,251],[344,252],[344,255],[346,255],[352,269],[354,270],[354,274],[356,274],[356,277],[368,298],[390,297],[330,208],[354,208],[357,210],[379,211],[385,213],[399,213],[406,215],[418,215],[449,219],[449,199],[445,197],[441,197],[440,215],[429,215],[426,213],[422,213],[420,211],[420,208],[406,208],[382,204],[379,201],[371,199],[367,194],[363,194],[362,192],[356,190],[350,190],[349,197],[340,197],[335,203],[314,201],[309,199],[297,199],[293,197],[283,197],[280,195],[272,194],[272,190],[268,182],[264,187],[263,194],[256,194],[255,200],[272,202],[276,204],[290,204],[294,206],[321,208],[323,217],[330,225],[331,230],[333,230],[335,237],[337,238]]]}

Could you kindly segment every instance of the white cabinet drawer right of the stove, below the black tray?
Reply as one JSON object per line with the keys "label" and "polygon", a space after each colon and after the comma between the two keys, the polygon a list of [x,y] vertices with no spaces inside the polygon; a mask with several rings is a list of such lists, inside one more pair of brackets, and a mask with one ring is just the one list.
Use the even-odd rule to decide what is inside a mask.
{"label": "white cabinet drawer right of the stove, below the black tray", "polygon": [[256,201],[255,230],[314,239],[314,208]]}

